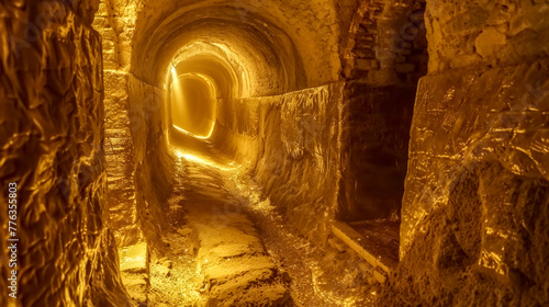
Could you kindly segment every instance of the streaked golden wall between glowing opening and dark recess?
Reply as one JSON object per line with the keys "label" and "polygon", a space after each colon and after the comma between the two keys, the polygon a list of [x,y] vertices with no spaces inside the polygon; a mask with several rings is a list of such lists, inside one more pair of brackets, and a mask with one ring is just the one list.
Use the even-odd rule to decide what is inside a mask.
{"label": "streaked golden wall between glowing opening and dark recess", "polygon": [[222,101],[226,152],[251,162],[264,193],[304,235],[325,238],[337,211],[343,83],[278,96]]}

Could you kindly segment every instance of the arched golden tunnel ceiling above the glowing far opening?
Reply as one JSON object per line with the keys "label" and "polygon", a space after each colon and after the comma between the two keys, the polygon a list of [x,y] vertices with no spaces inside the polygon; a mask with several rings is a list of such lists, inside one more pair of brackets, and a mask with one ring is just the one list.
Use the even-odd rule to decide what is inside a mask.
{"label": "arched golden tunnel ceiling above the glowing far opening", "polygon": [[160,0],[137,7],[131,71],[148,83],[161,87],[173,57],[193,43],[224,49],[216,61],[228,62],[253,84],[242,95],[283,93],[338,79],[339,27],[332,1]]}

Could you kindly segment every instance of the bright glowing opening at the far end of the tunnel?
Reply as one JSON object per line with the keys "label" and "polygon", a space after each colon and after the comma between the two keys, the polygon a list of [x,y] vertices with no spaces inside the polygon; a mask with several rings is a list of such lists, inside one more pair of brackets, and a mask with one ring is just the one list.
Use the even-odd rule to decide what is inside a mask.
{"label": "bright glowing opening at the far end of the tunnel", "polygon": [[178,75],[172,68],[169,105],[171,125],[198,138],[209,138],[215,126],[215,86],[200,73]]}

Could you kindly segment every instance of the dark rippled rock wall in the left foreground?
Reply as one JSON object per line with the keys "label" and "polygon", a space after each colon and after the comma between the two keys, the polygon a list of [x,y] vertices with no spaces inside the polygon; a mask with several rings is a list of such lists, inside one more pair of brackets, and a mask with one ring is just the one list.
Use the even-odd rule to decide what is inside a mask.
{"label": "dark rippled rock wall in the left foreground", "polygon": [[[131,306],[104,190],[97,1],[0,3],[0,178],[18,184],[16,300],[8,306]],[[7,293],[8,208],[0,213]],[[11,272],[10,272],[11,273]]]}

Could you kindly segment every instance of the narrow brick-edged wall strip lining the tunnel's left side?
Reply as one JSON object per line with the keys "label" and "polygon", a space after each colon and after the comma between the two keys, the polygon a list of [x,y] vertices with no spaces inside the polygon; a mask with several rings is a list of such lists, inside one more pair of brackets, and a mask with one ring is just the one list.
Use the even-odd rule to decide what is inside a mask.
{"label": "narrow brick-edged wall strip lining the tunnel's left side", "polygon": [[150,249],[165,245],[172,166],[164,92],[130,72],[136,4],[102,0],[93,27],[103,37],[108,208],[122,281],[141,305],[148,299]]}

